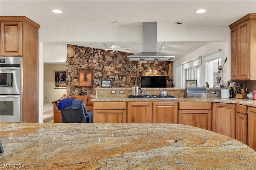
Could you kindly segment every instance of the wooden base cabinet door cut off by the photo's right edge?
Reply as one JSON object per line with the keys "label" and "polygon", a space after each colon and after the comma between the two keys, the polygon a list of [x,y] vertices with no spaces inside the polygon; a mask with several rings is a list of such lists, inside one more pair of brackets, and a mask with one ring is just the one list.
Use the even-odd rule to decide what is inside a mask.
{"label": "wooden base cabinet door cut off by the photo's right edge", "polygon": [[256,151],[256,107],[248,107],[248,146]]}

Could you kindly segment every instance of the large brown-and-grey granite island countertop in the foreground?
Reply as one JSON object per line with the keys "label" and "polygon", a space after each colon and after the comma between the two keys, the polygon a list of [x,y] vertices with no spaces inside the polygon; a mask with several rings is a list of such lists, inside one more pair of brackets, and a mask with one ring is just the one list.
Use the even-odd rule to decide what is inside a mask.
{"label": "large brown-and-grey granite island countertop in the foreground", "polygon": [[181,124],[0,123],[1,168],[256,169],[256,152]]}

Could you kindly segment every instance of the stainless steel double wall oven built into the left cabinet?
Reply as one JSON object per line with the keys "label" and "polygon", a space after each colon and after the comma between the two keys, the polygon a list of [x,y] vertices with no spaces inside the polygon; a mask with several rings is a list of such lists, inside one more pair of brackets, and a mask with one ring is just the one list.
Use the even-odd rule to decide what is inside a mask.
{"label": "stainless steel double wall oven built into the left cabinet", "polygon": [[22,57],[0,57],[0,122],[22,120]]}

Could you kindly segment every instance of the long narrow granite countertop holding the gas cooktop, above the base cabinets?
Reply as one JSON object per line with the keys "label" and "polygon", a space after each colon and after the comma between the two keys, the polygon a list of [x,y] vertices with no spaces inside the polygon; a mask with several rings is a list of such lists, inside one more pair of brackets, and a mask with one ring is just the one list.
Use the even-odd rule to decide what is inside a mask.
{"label": "long narrow granite countertop holding the gas cooktop, above the base cabinets", "polygon": [[256,107],[256,100],[249,99],[236,99],[236,98],[184,98],[176,97],[176,100],[170,99],[134,99],[127,97],[97,97],[92,98],[93,102],[217,102],[217,103],[230,103],[241,104],[245,106]]}

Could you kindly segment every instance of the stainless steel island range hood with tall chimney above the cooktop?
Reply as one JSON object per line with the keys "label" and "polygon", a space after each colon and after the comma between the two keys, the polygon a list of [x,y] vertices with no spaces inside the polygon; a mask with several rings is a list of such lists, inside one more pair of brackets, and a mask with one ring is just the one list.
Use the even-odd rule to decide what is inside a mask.
{"label": "stainless steel island range hood with tall chimney above the cooktop", "polygon": [[143,22],[143,51],[128,55],[128,61],[171,61],[175,56],[157,52],[157,24]]}

